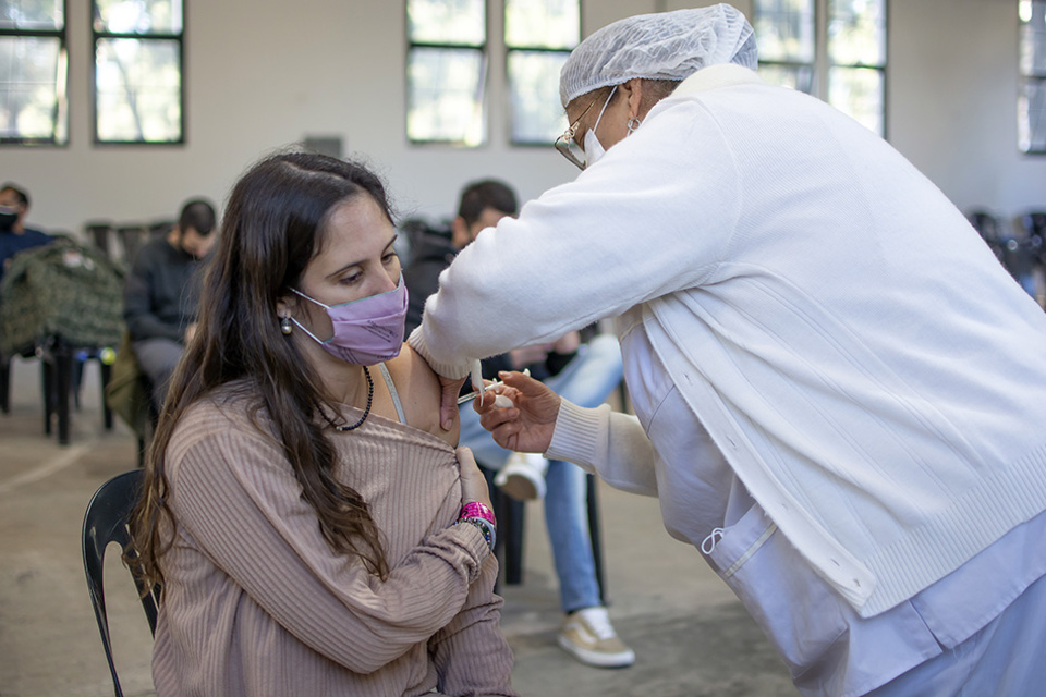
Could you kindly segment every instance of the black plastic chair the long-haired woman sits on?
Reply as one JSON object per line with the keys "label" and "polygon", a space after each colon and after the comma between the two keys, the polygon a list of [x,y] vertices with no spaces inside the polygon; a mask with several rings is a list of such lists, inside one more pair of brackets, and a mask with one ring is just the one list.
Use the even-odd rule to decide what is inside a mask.
{"label": "black plastic chair the long-haired woman sits on", "polygon": [[[127,530],[127,519],[131,510],[137,500],[145,472],[133,469],[117,475],[99,487],[84,516],[84,570],[87,573],[87,591],[90,595],[90,604],[95,609],[95,619],[98,621],[98,631],[101,633],[101,644],[106,649],[106,660],[109,661],[109,672],[112,673],[112,684],[117,697],[123,697],[120,688],[120,678],[112,662],[112,644],[109,638],[109,621],[106,616],[106,592],[104,586],[106,549],[115,542],[122,550],[131,545],[131,535]],[[142,584],[134,577],[135,587],[142,596],[142,607],[149,621],[149,628],[156,634],[156,613],[158,589],[144,592]]]}

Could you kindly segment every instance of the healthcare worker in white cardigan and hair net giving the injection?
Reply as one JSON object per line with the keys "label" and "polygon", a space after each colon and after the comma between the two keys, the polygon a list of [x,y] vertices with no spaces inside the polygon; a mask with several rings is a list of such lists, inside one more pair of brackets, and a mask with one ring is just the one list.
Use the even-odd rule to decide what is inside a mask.
{"label": "healthcare worker in white cardigan and hair net giving the injection", "polygon": [[657,496],[804,694],[1038,695],[1046,315],[900,154],[755,66],[728,5],[582,41],[584,171],[479,233],[410,343],[450,382],[616,317],[635,416],[506,374],[499,443]]}

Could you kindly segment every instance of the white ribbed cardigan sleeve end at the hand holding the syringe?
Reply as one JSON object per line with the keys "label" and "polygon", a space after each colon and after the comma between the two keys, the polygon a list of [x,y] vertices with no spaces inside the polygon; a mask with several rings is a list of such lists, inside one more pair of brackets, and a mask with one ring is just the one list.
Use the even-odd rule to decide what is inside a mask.
{"label": "white ribbed cardigan sleeve end at the hand holding the syringe", "polygon": [[615,489],[657,496],[654,444],[640,419],[608,404],[585,408],[563,400],[545,456],[572,462]]}

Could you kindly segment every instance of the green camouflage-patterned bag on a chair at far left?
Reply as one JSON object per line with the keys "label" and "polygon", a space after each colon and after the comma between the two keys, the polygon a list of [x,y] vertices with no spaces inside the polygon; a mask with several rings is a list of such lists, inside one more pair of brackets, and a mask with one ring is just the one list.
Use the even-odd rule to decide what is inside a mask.
{"label": "green camouflage-patterned bag on a chair at far left", "polygon": [[124,331],[123,270],[66,237],[11,257],[0,283],[0,353],[28,355],[50,338],[115,346]]}

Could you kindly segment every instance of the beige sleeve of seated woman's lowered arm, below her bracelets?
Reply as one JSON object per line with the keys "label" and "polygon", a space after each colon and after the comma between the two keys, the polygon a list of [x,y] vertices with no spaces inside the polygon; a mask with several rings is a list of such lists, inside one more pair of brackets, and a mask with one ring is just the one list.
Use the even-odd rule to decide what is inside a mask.
{"label": "beige sleeve of seated woman's lowered arm, below her bracelets", "polygon": [[516,695],[511,687],[512,650],[500,627],[503,602],[494,595],[497,577],[498,560],[491,554],[461,612],[429,641],[440,694]]}

